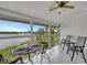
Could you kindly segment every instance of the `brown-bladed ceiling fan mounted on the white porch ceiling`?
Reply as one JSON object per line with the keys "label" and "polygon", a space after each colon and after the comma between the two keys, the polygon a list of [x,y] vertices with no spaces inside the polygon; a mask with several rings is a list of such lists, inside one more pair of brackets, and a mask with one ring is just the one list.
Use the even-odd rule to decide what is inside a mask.
{"label": "brown-bladed ceiling fan mounted on the white porch ceiling", "polygon": [[74,6],[67,6],[68,2],[69,1],[55,1],[57,7],[54,7],[54,8],[50,9],[48,11],[53,11],[55,9],[58,9],[58,8],[74,9]]}

